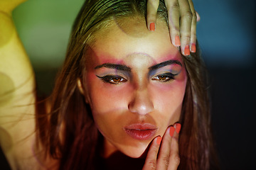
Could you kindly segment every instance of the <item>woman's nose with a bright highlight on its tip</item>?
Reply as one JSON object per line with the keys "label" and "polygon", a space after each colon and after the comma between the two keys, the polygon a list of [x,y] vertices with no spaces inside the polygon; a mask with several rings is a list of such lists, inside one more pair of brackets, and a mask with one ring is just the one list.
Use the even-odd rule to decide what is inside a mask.
{"label": "woman's nose with a bright highlight on its tip", "polygon": [[154,110],[154,105],[149,97],[146,89],[143,91],[136,91],[132,101],[128,105],[129,111],[140,115],[146,115]]}

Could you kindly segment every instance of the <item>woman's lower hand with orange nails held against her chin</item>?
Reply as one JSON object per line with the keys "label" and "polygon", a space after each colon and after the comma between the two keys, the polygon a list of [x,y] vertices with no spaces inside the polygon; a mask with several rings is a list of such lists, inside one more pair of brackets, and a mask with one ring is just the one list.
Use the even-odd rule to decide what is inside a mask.
{"label": "woman's lower hand with orange nails held against her chin", "polygon": [[146,155],[146,161],[142,170],[177,169],[180,163],[178,154],[178,132],[181,124],[167,128],[164,137],[155,137]]}

